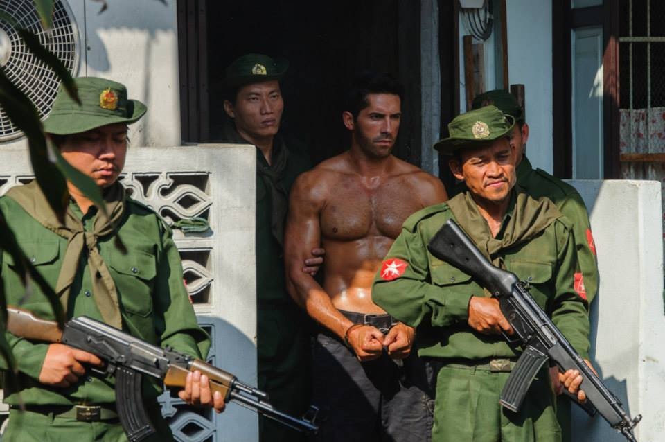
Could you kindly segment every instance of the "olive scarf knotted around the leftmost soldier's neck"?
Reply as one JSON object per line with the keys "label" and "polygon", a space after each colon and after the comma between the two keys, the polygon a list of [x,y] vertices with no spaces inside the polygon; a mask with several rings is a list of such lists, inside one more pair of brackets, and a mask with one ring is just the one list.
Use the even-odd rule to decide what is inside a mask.
{"label": "olive scarf knotted around the leftmost soldier's neck", "polygon": [[99,254],[97,240],[110,235],[114,226],[118,225],[125,214],[125,188],[114,184],[105,192],[108,217],[99,211],[93,223],[92,231],[85,231],[83,222],[68,208],[64,215],[64,224],[48,204],[42,189],[36,181],[26,186],[17,186],[7,192],[7,196],[15,200],[39,224],[67,239],[67,251],[60,274],[57,277],[55,292],[65,311],[69,302],[71,284],[76,277],[81,254],[87,251],[88,268],[92,279],[94,299],[104,321],[116,328],[122,328],[118,292],[109,269]]}

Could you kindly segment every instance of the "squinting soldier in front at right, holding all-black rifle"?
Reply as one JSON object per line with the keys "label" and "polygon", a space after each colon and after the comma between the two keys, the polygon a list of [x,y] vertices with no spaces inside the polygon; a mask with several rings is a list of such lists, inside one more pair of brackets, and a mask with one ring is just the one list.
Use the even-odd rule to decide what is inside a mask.
{"label": "squinting soldier in front at right, holding all-black rifle", "polygon": [[[577,269],[571,223],[545,198],[515,188],[513,118],[488,106],[456,117],[435,147],[452,154],[452,173],[467,190],[411,215],[375,276],[372,299],[417,328],[418,355],[438,369],[434,441],[560,441],[549,371],[533,382],[518,413],[499,395],[519,356],[500,333],[512,329],[499,303],[468,274],[425,248],[454,219],[495,265],[531,283],[535,301],[584,358],[589,351],[586,299],[574,290]],[[587,362],[588,363],[588,362]],[[581,376],[560,382],[579,400]]]}

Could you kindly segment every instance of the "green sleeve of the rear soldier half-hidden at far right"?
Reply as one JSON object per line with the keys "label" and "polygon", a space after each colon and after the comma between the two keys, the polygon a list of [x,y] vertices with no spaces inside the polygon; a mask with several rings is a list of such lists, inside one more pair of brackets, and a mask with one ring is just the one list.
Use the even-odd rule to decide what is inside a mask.
{"label": "green sleeve of the rear soldier half-hidden at far right", "polygon": [[585,296],[590,304],[598,292],[598,262],[587,207],[579,193],[571,193],[559,204],[559,210],[572,224],[577,272],[582,275]]}

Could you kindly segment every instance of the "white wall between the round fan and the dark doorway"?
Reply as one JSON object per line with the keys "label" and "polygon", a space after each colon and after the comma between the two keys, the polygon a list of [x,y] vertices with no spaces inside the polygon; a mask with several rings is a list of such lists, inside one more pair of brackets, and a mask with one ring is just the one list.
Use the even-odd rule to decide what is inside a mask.
{"label": "white wall between the round fan and the dark doorway", "polygon": [[96,2],[70,3],[84,5],[84,17],[77,17],[85,48],[80,75],[123,82],[130,98],[148,106],[145,118],[132,125],[132,143],[179,145],[176,2],[114,0],[102,14]]}

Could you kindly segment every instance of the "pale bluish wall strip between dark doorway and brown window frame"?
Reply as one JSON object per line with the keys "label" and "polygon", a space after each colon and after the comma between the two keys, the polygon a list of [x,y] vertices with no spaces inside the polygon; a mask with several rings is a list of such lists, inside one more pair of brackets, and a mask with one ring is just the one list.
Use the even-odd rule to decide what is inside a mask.
{"label": "pale bluish wall strip between dark doorway and brown window frame", "polygon": [[[526,121],[531,128],[526,152],[534,166],[552,172],[552,0],[506,1],[508,80],[526,90]],[[463,48],[466,30],[460,21],[460,103],[465,112]],[[496,88],[494,33],[485,42],[485,90]]]}

